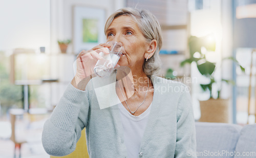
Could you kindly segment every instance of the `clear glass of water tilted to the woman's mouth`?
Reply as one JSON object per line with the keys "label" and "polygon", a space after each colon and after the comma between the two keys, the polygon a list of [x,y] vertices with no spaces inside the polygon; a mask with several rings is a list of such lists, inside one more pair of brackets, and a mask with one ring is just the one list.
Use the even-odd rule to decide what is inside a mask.
{"label": "clear glass of water tilted to the woman's mouth", "polygon": [[99,55],[102,56],[103,59],[98,60],[94,67],[94,73],[102,78],[110,76],[123,52],[122,43],[109,41],[108,44],[111,45],[109,48],[110,53],[105,54],[100,52]]}

